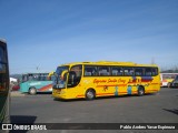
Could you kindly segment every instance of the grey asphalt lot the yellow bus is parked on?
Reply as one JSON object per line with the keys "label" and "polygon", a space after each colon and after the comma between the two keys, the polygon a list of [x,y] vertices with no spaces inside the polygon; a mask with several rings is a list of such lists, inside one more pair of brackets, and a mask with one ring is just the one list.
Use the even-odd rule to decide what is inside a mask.
{"label": "grey asphalt lot the yellow bus is parked on", "polygon": [[[93,101],[55,101],[51,94],[11,96],[12,123],[178,123],[178,89],[162,88],[144,96],[100,98]],[[99,132],[87,130],[85,132]],[[32,131],[28,131],[32,132]],[[49,132],[49,131],[44,131]],[[50,132],[82,132],[60,130]],[[102,132],[142,132],[142,130],[102,130]],[[144,132],[170,132],[144,130]],[[171,132],[178,132],[171,130]]]}

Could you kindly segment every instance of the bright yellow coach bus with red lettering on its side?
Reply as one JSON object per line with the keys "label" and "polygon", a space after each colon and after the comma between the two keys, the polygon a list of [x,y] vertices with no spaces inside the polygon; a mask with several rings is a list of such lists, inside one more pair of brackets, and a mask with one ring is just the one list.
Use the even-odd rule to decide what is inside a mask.
{"label": "bright yellow coach bus with red lettering on its side", "polygon": [[111,95],[144,95],[160,90],[159,68],[156,64],[76,62],[59,65],[55,75],[55,99],[93,100]]}

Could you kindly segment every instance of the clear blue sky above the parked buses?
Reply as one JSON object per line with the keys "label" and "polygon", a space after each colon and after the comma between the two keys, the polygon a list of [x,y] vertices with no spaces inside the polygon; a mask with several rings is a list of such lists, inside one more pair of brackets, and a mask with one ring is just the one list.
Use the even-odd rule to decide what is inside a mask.
{"label": "clear blue sky above the parked buses", "polygon": [[178,0],[0,0],[10,73],[76,61],[178,65]]}

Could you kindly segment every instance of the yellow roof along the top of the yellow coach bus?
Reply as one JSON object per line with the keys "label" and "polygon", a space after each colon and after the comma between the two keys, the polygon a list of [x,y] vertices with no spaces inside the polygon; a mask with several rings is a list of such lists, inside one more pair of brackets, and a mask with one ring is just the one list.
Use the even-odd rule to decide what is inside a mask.
{"label": "yellow roof along the top of the yellow coach bus", "polygon": [[158,66],[157,64],[137,64],[135,62],[115,62],[115,61],[97,61],[97,62],[71,62],[62,65],[90,64],[90,65],[128,65],[128,66]]}

